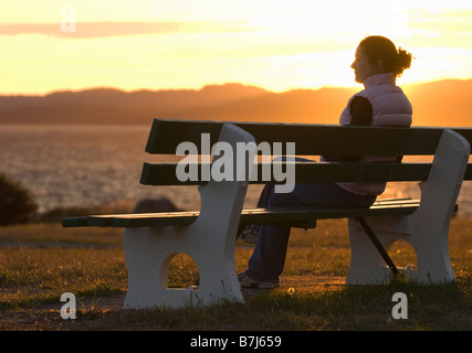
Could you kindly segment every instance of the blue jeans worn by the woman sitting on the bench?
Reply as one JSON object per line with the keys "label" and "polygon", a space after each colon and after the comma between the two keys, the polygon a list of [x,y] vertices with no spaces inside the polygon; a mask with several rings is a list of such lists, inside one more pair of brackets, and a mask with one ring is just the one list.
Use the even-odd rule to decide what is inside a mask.
{"label": "blue jeans worn by the woman sitting on the bench", "polygon": [[[274,185],[266,184],[261,193],[258,207],[319,206],[319,207],[369,207],[375,195],[356,195],[336,183],[295,184],[291,193],[275,193]],[[261,225],[258,243],[249,259],[245,271],[258,280],[279,280],[289,247],[290,226]]]}

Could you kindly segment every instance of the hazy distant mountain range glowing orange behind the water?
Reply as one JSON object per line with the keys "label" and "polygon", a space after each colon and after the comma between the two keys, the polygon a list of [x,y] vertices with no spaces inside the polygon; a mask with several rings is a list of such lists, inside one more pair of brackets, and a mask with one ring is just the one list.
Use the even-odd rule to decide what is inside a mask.
{"label": "hazy distant mountain range glowing orange behind the water", "polygon": [[[0,124],[139,124],[154,118],[337,124],[354,88],[273,93],[241,84],[201,89],[93,88],[0,96]],[[403,86],[416,126],[472,126],[472,79]]]}

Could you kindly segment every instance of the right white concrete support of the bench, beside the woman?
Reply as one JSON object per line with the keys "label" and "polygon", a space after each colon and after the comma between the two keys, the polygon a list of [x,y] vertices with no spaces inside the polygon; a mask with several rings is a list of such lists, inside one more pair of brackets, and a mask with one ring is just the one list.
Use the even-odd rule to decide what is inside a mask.
{"label": "right white concrete support of the bench, beside the woman", "polygon": [[[454,280],[449,257],[449,225],[470,156],[469,142],[444,130],[438,145],[428,181],[420,183],[421,204],[410,216],[366,218],[384,248],[398,239],[411,244],[417,269],[407,276],[424,284]],[[391,278],[364,229],[349,220],[352,263],[346,284],[384,284]]]}

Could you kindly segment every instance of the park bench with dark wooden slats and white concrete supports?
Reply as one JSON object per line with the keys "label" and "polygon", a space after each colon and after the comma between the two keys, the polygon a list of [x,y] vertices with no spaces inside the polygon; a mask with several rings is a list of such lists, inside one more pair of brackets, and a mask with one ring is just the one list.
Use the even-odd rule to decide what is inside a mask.
{"label": "park bench with dark wooden slats and white concrete supports", "polygon": [[[224,149],[221,149],[224,154],[214,150],[210,160],[210,156],[202,152],[208,151],[208,146],[217,146],[217,141],[224,142],[221,146],[231,147],[233,151],[241,146],[247,149],[244,153],[232,156]],[[63,226],[124,227],[128,270],[125,308],[208,304],[221,299],[243,301],[234,266],[234,243],[238,232],[251,223],[313,228],[317,220],[348,218],[352,260],[346,284],[388,282],[400,271],[388,256],[389,247],[398,239],[411,244],[417,254],[417,268],[409,271],[411,278],[427,284],[453,281],[448,233],[462,181],[472,179],[470,141],[472,129],[469,128],[155,119],[146,146],[148,153],[176,154],[181,142],[186,142],[189,154],[202,154],[183,169],[182,161],[145,162],[140,183],[198,185],[200,210],[67,217],[63,220]],[[356,163],[298,162],[287,158],[268,162],[258,154],[261,150],[270,154],[274,149],[263,151],[262,142],[270,147],[282,143],[286,147],[285,152],[277,152],[289,157],[292,156],[286,152],[290,142],[295,142],[296,156],[411,154],[433,156],[433,159],[427,162]],[[191,146],[198,150],[192,151]],[[217,172],[229,172],[225,175],[232,178],[220,180],[221,174],[213,173],[212,169],[217,164]],[[285,169],[285,180],[281,179],[276,165]],[[198,168],[198,178],[190,178],[193,174],[189,171],[195,172],[193,168]],[[380,199],[368,208],[243,208],[250,183],[289,186],[289,171],[294,175],[290,182],[296,183],[419,182],[421,197]],[[188,172],[188,180],[182,178],[185,172]],[[200,275],[198,287],[168,288],[169,264],[180,253],[195,260]]]}

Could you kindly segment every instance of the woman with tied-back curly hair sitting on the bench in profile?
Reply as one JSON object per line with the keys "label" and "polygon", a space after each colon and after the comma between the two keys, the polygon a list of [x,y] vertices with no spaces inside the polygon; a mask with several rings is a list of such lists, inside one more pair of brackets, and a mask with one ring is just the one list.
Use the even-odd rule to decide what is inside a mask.
{"label": "woman with tied-back curly hair sitting on the bench in profile", "polygon": [[[344,109],[339,124],[355,126],[411,125],[412,108],[396,78],[409,68],[411,54],[397,50],[384,36],[368,36],[357,46],[350,65],[355,81],[365,89],[354,95]],[[324,156],[329,161],[395,161],[397,157],[335,157]],[[319,207],[369,207],[386,188],[386,183],[298,183],[290,193],[275,193],[274,185],[264,186],[258,207],[319,206]],[[290,226],[250,225],[241,238],[256,239],[248,269],[240,274],[243,288],[276,288],[289,246]]]}

